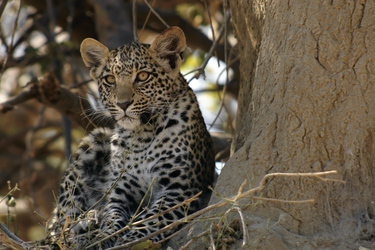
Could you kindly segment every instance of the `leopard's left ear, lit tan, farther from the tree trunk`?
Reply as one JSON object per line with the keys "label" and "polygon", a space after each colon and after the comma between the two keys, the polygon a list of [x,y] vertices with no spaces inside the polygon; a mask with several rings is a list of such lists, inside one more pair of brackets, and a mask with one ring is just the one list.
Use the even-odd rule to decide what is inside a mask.
{"label": "leopard's left ear, lit tan, farther from the tree trunk", "polygon": [[81,56],[85,65],[90,68],[91,74],[95,75],[95,71],[105,65],[108,55],[108,48],[95,39],[86,38],[81,43]]}

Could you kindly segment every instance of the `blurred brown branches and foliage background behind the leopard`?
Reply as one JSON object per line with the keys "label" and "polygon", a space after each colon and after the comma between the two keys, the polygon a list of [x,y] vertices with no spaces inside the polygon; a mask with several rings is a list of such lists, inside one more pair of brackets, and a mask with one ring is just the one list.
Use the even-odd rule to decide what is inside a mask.
{"label": "blurred brown branches and foliage background behind the leopard", "polygon": [[[64,94],[81,96],[95,111],[96,83],[79,54],[87,37],[114,49],[134,40],[150,43],[168,26],[185,32],[181,71],[198,96],[219,173],[229,157],[240,79],[227,5],[225,0],[1,0],[0,221],[23,240],[43,238],[71,153],[92,123],[110,126],[95,112],[88,118],[83,112],[88,108]],[[47,76],[55,85],[39,84]]]}

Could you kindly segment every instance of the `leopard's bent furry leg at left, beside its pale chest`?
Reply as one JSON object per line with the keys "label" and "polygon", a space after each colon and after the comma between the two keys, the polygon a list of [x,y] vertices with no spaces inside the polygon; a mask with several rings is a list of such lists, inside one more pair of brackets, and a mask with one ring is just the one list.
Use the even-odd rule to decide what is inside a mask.
{"label": "leopard's bent furry leg at left, beside its pale chest", "polygon": [[105,190],[94,187],[106,186],[108,181],[111,135],[108,129],[94,130],[83,139],[73,156],[73,162],[65,171],[60,185],[57,206],[47,226],[55,240],[64,234],[63,238],[68,242],[83,246],[90,238],[86,236],[94,235],[91,231],[99,227],[97,217],[101,213],[100,204],[105,202]]}

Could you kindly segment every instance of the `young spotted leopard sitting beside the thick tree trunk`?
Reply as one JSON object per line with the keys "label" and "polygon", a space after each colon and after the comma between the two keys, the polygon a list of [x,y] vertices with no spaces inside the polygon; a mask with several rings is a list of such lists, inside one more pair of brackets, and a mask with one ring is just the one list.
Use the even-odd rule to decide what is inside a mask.
{"label": "young spotted leopard sitting beside the thick tree trunk", "polygon": [[54,242],[106,249],[148,237],[163,246],[183,224],[162,229],[207,206],[214,149],[180,72],[185,48],[178,27],[151,44],[111,51],[93,38],[83,40],[83,62],[115,125],[95,128],[72,156],[48,222]]}

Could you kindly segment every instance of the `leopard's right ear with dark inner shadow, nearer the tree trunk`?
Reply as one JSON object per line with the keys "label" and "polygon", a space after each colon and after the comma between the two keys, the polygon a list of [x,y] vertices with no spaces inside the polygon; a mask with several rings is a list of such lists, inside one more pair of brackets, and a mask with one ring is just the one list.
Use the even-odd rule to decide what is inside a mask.
{"label": "leopard's right ear with dark inner shadow, nearer the tree trunk", "polygon": [[150,46],[150,53],[167,72],[177,76],[183,62],[185,47],[184,32],[178,27],[171,27],[155,38]]}

